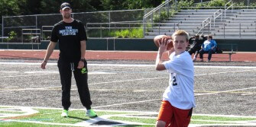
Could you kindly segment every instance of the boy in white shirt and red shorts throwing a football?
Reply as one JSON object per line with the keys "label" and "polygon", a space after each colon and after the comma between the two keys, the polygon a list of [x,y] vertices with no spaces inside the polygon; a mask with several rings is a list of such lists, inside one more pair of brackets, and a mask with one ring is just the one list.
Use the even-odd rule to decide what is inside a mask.
{"label": "boy in white shirt and red shorts throwing a football", "polygon": [[189,45],[188,33],[177,30],[172,35],[173,48],[168,50],[169,59],[162,61],[167,52],[169,41],[159,41],[156,59],[156,70],[167,70],[170,73],[169,86],[164,92],[156,126],[188,126],[195,104],[194,67],[190,53],[186,52]]}

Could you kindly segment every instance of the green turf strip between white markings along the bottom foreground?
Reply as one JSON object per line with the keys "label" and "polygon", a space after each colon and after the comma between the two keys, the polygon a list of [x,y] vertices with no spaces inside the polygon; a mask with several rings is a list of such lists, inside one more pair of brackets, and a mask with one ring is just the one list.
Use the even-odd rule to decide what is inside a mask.
{"label": "green turf strip between white markings along the bottom foreground", "polygon": [[[1,108],[1,107],[0,107]],[[12,117],[9,119],[13,120],[20,120],[21,122],[8,122],[6,120],[0,120],[0,126],[1,127],[31,127],[31,126],[38,126],[38,127],[48,127],[48,126],[54,126],[54,127],[61,127],[64,125],[49,125],[48,123],[56,123],[56,124],[76,124],[78,122],[83,122],[86,120],[89,120],[90,118],[86,116],[85,110],[70,110],[69,111],[69,118],[63,118],[60,116],[62,113],[62,110],[42,110],[42,109],[34,109],[37,110],[39,113],[29,115],[29,116],[18,116],[18,117]],[[1,111],[0,113],[14,113],[14,114],[21,114],[22,112],[13,112],[13,111]],[[105,116],[105,115],[112,115],[109,116],[108,119],[111,120],[121,120],[126,122],[139,122],[143,124],[149,124],[149,125],[123,125],[125,127],[133,127],[133,126],[154,126],[156,122],[156,116],[147,113],[131,113],[131,112],[107,112],[107,111],[96,111],[98,116]],[[136,114],[136,115],[134,115]],[[129,117],[126,117],[126,116]],[[147,118],[138,118],[138,116],[147,116]],[[148,118],[152,117],[152,118]],[[8,118],[5,118],[8,119]],[[227,125],[227,124],[235,124],[236,121],[244,121],[248,122],[251,120],[256,120],[254,117],[229,117],[229,116],[192,116],[190,124],[219,124],[219,125]],[[38,124],[38,123],[28,123],[28,122],[43,122],[44,124]],[[229,122],[229,123],[228,123]]]}

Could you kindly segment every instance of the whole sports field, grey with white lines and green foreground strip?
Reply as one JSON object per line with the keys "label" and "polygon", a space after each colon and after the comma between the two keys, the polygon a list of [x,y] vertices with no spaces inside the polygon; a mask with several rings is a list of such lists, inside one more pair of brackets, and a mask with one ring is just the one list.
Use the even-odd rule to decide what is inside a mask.
{"label": "whole sports field, grey with white lines and green foreground strip", "polygon": [[[167,71],[154,61],[88,61],[90,119],[72,79],[70,117],[62,118],[57,61],[0,60],[1,126],[154,126]],[[196,108],[190,126],[255,126],[256,64],[195,62]]]}

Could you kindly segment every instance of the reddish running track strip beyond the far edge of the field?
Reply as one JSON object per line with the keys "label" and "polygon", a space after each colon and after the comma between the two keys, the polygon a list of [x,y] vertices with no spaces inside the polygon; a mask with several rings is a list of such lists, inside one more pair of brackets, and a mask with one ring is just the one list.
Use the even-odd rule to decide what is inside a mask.
{"label": "reddish running track strip beyond the far edge of the field", "polygon": [[[46,50],[0,50],[0,59],[44,59]],[[86,59],[125,59],[125,60],[155,60],[156,51],[86,51]],[[206,60],[207,54],[204,55]],[[54,50],[50,59],[58,59],[59,50]],[[164,56],[167,59],[167,53]],[[232,55],[233,62],[256,62],[256,52],[237,52]],[[227,54],[212,55],[212,62],[228,62]]]}

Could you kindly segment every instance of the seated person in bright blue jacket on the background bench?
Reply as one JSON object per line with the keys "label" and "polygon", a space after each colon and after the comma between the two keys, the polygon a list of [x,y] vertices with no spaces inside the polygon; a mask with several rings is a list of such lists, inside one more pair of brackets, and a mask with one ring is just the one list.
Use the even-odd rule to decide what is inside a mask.
{"label": "seated person in bright blue jacket on the background bench", "polygon": [[212,40],[212,36],[208,36],[207,40],[203,42],[200,51],[199,51],[199,56],[200,56],[200,62],[203,62],[203,54],[208,53],[208,60],[207,62],[210,62],[212,58],[212,53],[215,52],[215,48],[217,46],[217,43],[215,40]]}

